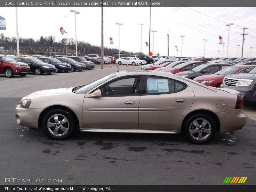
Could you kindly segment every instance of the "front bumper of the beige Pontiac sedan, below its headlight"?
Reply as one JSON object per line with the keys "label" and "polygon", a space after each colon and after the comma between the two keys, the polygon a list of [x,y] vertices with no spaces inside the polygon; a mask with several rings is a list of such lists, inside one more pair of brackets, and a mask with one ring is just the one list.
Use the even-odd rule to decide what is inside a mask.
{"label": "front bumper of the beige Pontiac sedan, below its headlight", "polygon": [[43,109],[15,108],[16,121],[21,126],[39,129],[38,118]]}

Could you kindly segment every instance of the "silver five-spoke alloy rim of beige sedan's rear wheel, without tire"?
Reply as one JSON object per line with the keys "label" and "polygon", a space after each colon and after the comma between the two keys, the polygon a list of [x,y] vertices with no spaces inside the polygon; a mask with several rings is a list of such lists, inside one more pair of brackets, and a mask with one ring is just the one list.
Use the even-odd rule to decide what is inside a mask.
{"label": "silver five-spoke alloy rim of beige sedan's rear wheel, without tire", "polygon": [[196,140],[205,140],[211,132],[212,126],[204,118],[195,119],[189,126],[189,133]]}

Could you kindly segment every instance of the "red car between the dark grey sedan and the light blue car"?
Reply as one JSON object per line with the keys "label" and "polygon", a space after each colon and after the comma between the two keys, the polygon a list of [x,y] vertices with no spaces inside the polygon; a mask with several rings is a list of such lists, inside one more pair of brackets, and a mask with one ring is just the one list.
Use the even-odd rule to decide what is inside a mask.
{"label": "red car between the dark grey sedan and the light blue car", "polygon": [[202,65],[204,63],[207,62],[203,62],[203,61],[188,61],[185,63],[181,63],[180,65],[177,65],[173,68],[169,68],[169,69],[165,69],[164,72],[170,72],[172,74],[176,74],[176,73],[180,73],[182,71],[188,71],[188,70],[192,70],[193,68]]}

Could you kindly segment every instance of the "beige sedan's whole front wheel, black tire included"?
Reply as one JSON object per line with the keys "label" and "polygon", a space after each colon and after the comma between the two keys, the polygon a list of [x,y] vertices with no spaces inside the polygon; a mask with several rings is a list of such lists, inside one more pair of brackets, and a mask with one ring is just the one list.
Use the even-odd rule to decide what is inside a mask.
{"label": "beige sedan's whole front wheel, black tire included", "polygon": [[52,139],[67,139],[74,130],[74,118],[66,110],[53,109],[45,114],[42,127],[44,133]]}

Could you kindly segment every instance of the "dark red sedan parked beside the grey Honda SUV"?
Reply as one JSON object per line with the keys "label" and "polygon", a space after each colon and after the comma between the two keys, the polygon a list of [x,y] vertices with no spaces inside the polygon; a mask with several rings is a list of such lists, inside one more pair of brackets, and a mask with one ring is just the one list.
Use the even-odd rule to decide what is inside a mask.
{"label": "dark red sedan parked beside the grey Honda SUV", "polygon": [[237,73],[248,73],[255,67],[256,65],[234,65],[224,68],[217,73],[211,75],[196,77],[194,80],[207,86],[220,87],[220,84],[222,83],[225,76]]}

